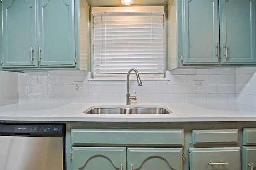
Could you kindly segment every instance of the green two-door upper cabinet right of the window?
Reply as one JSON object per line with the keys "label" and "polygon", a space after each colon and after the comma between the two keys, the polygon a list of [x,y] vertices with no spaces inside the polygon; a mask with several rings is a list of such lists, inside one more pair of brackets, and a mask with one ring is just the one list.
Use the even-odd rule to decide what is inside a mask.
{"label": "green two-door upper cabinet right of the window", "polygon": [[182,65],[255,65],[255,0],[183,0]]}

